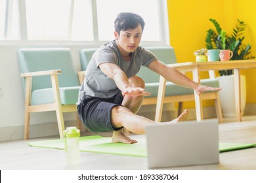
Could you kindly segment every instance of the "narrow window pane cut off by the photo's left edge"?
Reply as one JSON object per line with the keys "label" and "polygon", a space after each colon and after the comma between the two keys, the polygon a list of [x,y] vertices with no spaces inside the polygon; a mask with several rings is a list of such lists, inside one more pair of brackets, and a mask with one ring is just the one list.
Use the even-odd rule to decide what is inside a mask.
{"label": "narrow window pane cut off by the photo's left edge", "polygon": [[18,0],[0,0],[0,40],[18,39]]}

